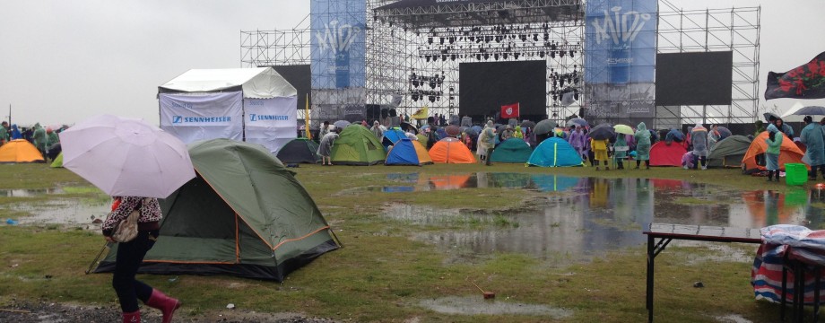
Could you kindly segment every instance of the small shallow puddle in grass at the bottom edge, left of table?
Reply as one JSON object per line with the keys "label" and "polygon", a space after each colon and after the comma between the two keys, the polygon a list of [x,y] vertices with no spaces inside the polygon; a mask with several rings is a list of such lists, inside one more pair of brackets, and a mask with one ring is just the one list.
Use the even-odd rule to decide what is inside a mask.
{"label": "small shallow puddle in grass at the bottom edge, left of table", "polygon": [[552,308],[546,305],[525,304],[510,301],[484,300],[477,296],[449,296],[420,302],[421,307],[445,314],[462,315],[540,315],[549,319],[565,319],[572,310]]}

